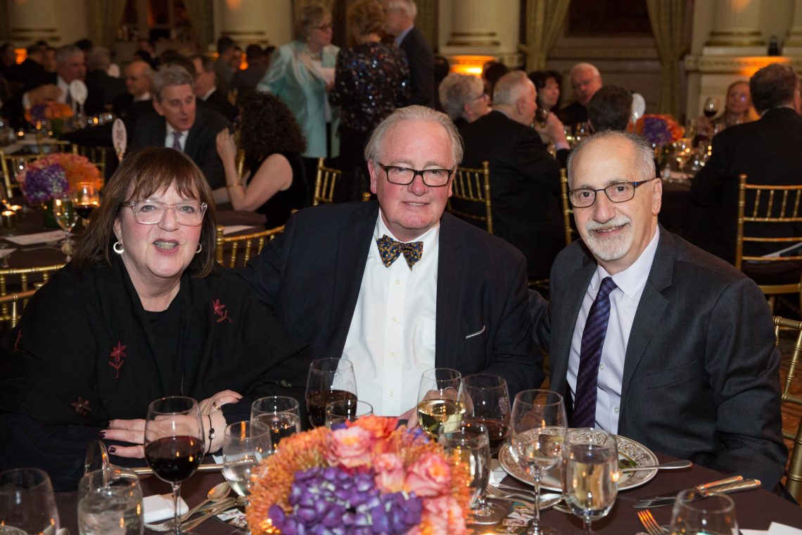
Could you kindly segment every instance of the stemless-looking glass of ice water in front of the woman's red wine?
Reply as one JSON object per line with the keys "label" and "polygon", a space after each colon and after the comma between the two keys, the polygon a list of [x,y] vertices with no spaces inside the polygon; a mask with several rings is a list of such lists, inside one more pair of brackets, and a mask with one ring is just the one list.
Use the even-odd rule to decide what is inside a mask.
{"label": "stemless-looking glass of ice water in front of the woman's red wine", "polygon": [[142,516],[142,489],[134,472],[125,468],[95,470],[78,484],[80,535],[141,535]]}

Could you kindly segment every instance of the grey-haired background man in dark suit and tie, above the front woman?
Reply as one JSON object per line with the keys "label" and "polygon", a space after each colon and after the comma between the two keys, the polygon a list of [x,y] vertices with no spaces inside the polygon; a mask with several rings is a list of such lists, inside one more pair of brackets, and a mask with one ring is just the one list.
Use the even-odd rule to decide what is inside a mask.
{"label": "grey-haired background man in dark suit and tie, above the front woman", "polygon": [[213,188],[225,187],[223,162],[217,156],[215,137],[229,121],[219,113],[197,108],[194,80],[184,68],[162,67],[153,77],[156,113],[140,117],[134,128],[132,149],[172,147],[186,153]]}

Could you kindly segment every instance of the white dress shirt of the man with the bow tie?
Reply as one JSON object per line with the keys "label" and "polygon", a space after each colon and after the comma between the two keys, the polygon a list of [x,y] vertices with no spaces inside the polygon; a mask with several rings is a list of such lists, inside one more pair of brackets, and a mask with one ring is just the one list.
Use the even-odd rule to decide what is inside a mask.
{"label": "white dress shirt of the man with the bow tie", "polygon": [[375,415],[398,416],[418,403],[423,371],[435,367],[435,318],[439,225],[423,241],[421,259],[409,269],[403,254],[388,268],[376,239],[396,239],[379,209],[342,358],[354,364],[357,397]]}

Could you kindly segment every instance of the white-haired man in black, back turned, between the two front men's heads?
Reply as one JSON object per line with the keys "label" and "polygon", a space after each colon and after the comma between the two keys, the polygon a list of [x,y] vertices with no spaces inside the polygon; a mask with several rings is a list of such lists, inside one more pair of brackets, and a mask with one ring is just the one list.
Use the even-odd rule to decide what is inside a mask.
{"label": "white-haired man in black, back turned, between the two front men's heads", "polygon": [[[565,245],[560,213],[560,164],[530,125],[537,90],[524,71],[502,76],[493,91],[492,111],[462,130],[466,167],[490,162],[493,233],[520,249],[529,278],[549,276]],[[558,157],[568,156],[563,126],[553,113],[542,131],[555,140]]]}

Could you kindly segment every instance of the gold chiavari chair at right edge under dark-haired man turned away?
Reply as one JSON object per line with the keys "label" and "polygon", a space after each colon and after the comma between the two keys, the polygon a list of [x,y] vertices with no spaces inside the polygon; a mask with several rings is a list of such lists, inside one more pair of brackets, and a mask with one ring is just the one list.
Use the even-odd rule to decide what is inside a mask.
{"label": "gold chiavari chair at right edge under dark-haired man turned away", "polygon": [[[748,199],[747,192],[750,193]],[[802,248],[784,256],[762,257],[744,254],[743,246],[768,243],[783,249],[802,243],[802,236],[767,237],[771,235],[772,225],[802,224],[800,201],[802,185],[748,184],[746,175],[739,176],[735,267],[757,283],[768,297],[772,310],[776,296],[782,294],[797,294],[802,310]],[[746,223],[751,226],[747,227]],[[755,235],[755,227],[763,232]]]}

